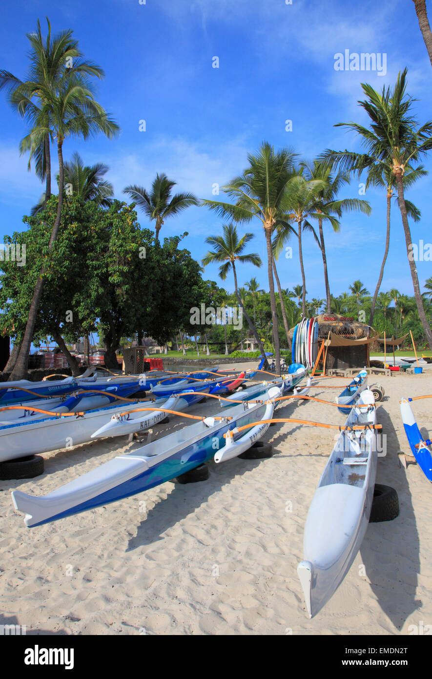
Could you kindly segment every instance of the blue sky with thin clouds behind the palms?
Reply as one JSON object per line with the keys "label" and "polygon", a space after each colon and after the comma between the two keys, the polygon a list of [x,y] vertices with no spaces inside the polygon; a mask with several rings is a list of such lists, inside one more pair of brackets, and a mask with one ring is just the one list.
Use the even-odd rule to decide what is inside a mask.
{"label": "blue sky with thin clouds behind the palms", "polygon": [[[432,16],[432,10],[429,12]],[[0,26],[0,67],[24,77],[28,65],[26,33],[49,16],[53,31],[73,29],[87,58],[106,72],[98,84],[98,100],[121,126],[114,141],[103,136],[88,142],[68,139],[64,158],[79,151],[86,164],[104,162],[115,196],[131,183],[148,187],[156,172],[178,183],[178,190],[213,198],[212,185],[223,185],[246,167],[246,155],[263,139],[275,147],[289,145],[312,160],[328,147],[359,149],[358,141],[336,122],[366,122],[357,106],[360,83],[393,86],[408,67],[408,92],[418,99],[414,111],[421,122],[431,117],[432,69],[421,37],[414,4],[408,0],[39,0],[9,3]],[[45,33],[45,30],[43,31]],[[387,54],[387,73],[335,71],[336,52]],[[219,68],[212,68],[218,56]],[[292,131],[286,132],[286,120]],[[140,120],[146,132],[139,131]],[[22,230],[22,215],[37,202],[43,186],[27,171],[18,143],[24,122],[0,93],[0,236]],[[54,158],[53,158],[54,160]],[[427,160],[427,169],[431,162]],[[412,238],[430,239],[431,177],[410,190],[408,198],[423,218],[411,224]],[[54,183],[53,183],[54,188]],[[330,288],[347,291],[356,278],[372,293],[384,251],[386,200],[370,189],[359,196],[357,181],[343,197],[364,197],[372,215],[347,215],[339,234],[326,232]],[[220,194],[223,200],[223,195]],[[127,199],[128,200],[128,199]],[[128,200],[129,202],[129,200]],[[138,211],[140,222],[147,225]],[[161,236],[189,232],[183,241],[193,257],[207,251],[205,237],[221,232],[222,222],[206,208],[189,208],[167,220]],[[265,261],[259,223],[250,250]],[[1,240],[1,239],[0,239]],[[279,259],[282,287],[301,281],[296,242],[293,259]],[[308,298],[323,297],[319,250],[309,235],[304,244]],[[420,285],[432,275],[430,262],[418,263]],[[239,284],[256,276],[268,289],[267,266],[241,266]],[[206,278],[220,280],[216,266]],[[228,289],[233,282],[228,279]],[[381,289],[412,294],[401,217],[393,206],[391,246]]]}

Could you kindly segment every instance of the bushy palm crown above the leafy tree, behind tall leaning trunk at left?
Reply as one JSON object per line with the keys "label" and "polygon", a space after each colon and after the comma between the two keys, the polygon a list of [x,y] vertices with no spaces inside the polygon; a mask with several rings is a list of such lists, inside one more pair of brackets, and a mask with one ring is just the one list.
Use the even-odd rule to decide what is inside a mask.
{"label": "bushy palm crown above the leafy tree, behind tall leaning trunk at left", "polygon": [[[113,185],[102,179],[109,167],[103,163],[96,163],[96,165],[85,166],[79,153],[74,153],[71,162],[64,163],[64,185],[70,186],[73,196],[79,196],[83,202],[93,201],[97,205],[108,208],[114,196]],[[57,182],[60,181],[59,176],[56,177]],[[45,194],[42,195],[39,203],[35,205],[31,214],[36,215],[45,206]]]}

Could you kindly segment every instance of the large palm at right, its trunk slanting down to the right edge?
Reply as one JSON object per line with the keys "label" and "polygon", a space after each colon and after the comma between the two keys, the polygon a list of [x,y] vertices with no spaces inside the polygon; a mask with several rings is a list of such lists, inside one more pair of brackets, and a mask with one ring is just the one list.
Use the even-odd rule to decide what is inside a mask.
{"label": "large palm at right, its trunk slanting down to the right edge", "polygon": [[[364,164],[361,169],[368,168],[368,159],[380,163],[382,170],[391,166],[397,187],[399,209],[401,211],[402,224],[404,226],[406,252],[412,285],[414,287],[414,297],[418,308],[418,315],[421,319],[429,347],[432,350],[432,331],[423,306],[423,298],[420,294],[420,285],[416,271],[416,262],[412,257],[412,240],[410,225],[408,224],[408,210],[404,195],[404,174],[411,169],[420,158],[432,149],[432,120],[422,126],[418,126],[417,120],[413,117],[410,109],[413,99],[406,94],[406,74],[407,69],[397,76],[397,81],[393,92],[390,88],[382,88],[379,94],[368,84],[362,84],[366,100],[359,102],[359,105],[368,113],[371,124],[366,128],[354,122],[338,123],[338,126],[346,126],[361,136],[361,143],[366,147],[367,153],[364,155]],[[344,151],[340,155],[345,155],[342,159],[342,167],[345,169],[359,169],[358,158],[353,162],[349,151]],[[355,154],[357,155],[357,154]],[[420,166],[421,168],[421,166]]]}

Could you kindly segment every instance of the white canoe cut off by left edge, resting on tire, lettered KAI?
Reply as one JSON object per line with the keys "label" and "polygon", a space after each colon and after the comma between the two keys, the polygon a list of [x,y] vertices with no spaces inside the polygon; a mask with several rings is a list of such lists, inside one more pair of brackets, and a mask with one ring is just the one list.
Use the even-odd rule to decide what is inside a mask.
{"label": "white canoe cut off by left edge, resting on tire, lettered KAI", "polygon": [[[183,397],[184,401],[179,405],[181,407],[185,403],[185,407],[187,407],[187,405],[197,403],[202,398],[202,395],[195,394],[195,389],[191,388],[190,396]],[[32,419],[31,421],[7,423],[7,425],[0,426],[0,462],[87,443],[92,440],[92,434],[96,430],[109,422],[111,416],[118,413],[127,414],[129,410],[144,407],[144,403],[146,402],[136,401],[126,405],[111,405],[89,410],[83,415],[77,414],[77,416],[67,416],[66,414],[55,416],[53,414],[52,417],[45,416],[40,420]],[[161,399],[157,406],[149,401],[149,407],[155,407],[155,411],[147,413],[146,418],[142,417],[142,420],[145,419],[147,424],[140,427],[141,430],[157,424],[167,416],[167,413],[156,410],[156,408],[166,407],[174,410],[177,404],[178,397]]]}

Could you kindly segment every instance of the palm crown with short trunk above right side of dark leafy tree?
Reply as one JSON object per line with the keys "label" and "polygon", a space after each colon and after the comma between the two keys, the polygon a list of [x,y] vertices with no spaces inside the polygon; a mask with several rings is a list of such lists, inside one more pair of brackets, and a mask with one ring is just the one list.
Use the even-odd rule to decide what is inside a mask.
{"label": "palm crown with short trunk above right side of dark leafy tree", "polygon": [[174,186],[176,186],[176,182],[168,179],[162,173],[156,175],[150,193],[144,187],[137,185],[130,185],[123,189],[123,194],[128,194],[142,209],[144,215],[155,222],[156,242],[159,242],[159,231],[165,219],[178,215],[191,205],[198,204],[198,200],[193,194],[175,194],[171,197],[172,187]]}

